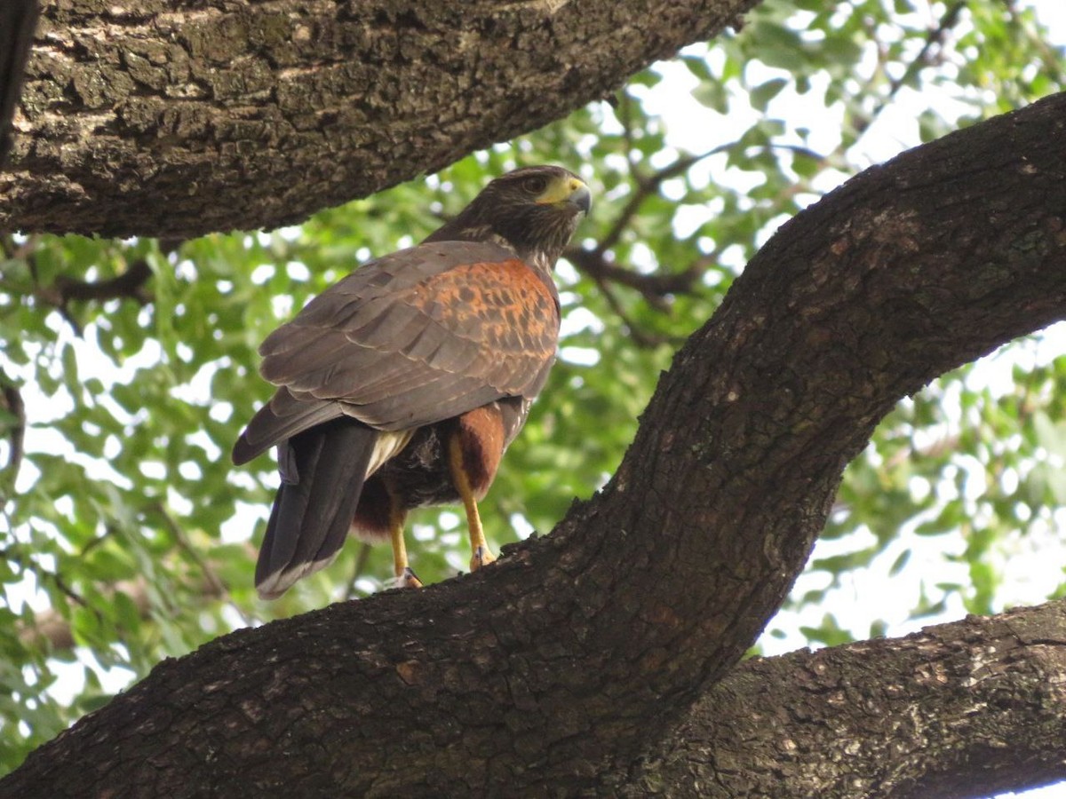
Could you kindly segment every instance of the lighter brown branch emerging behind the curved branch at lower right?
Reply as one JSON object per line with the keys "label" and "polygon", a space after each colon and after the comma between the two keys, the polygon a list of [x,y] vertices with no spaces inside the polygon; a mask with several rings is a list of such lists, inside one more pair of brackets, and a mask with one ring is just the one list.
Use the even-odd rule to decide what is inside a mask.
{"label": "lighter brown branch emerging behind the curved branch at lower right", "polygon": [[741,664],[628,793],[954,799],[1020,790],[1066,778],[1064,708],[1066,603],[970,617]]}

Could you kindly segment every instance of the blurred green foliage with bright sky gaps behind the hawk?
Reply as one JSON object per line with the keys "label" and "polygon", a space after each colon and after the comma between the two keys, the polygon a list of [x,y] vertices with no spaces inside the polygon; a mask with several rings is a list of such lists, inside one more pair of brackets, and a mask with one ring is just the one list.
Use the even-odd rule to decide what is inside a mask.
{"label": "blurred green foliage with bright sky gaps behind the hawk", "polygon": [[[1062,55],[1031,11],[995,0],[771,0],[741,32],[634,76],[614,103],[297,228],[176,249],[4,239],[0,771],[164,656],[382,588],[387,548],[352,543],[259,602],[275,467],[228,460],[270,395],[259,342],[356,264],[419,240],[516,165],[562,163],[591,182],[587,260],[559,270],[560,362],[483,506],[497,545],[546,534],[610,476],[677,343],[782,219],[901,143],[1061,91]],[[79,298],[101,286],[108,298]],[[1017,598],[1012,558],[1066,519],[1066,359],[1039,341],[944,376],[882,424],[764,649]],[[415,522],[424,581],[466,568],[455,509]],[[909,594],[845,618],[840,600],[876,574]],[[1066,593],[1060,577],[1045,593]]]}

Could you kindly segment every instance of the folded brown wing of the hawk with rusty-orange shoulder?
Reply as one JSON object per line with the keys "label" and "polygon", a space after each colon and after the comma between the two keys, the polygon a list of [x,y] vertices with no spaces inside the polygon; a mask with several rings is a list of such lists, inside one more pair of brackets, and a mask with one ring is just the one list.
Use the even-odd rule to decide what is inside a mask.
{"label": "folded brown wing of the hawk with rusty-orange shoulder", "polygon": [[435,242],[373,261],[263,342],[261,372],[278,392],[233,457],[340,415],[399,430],[532,399],[559,321],[550,277],[496,244]]}

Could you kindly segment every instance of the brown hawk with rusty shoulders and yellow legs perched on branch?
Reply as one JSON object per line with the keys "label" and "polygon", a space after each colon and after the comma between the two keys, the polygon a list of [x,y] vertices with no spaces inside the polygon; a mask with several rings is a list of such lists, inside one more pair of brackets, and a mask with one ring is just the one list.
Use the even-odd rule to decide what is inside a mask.
{"label": "brown hawk with rusty shoulders and yellow legs perched on branch", "polygon": [[462,502],[470,569],[495,558],[478,501],[555,358],[552,270],[588,187],[558,166],[492,180],[421,244],[365,264],[260,347],[278,387],[233,447],[278,447],[281,485],[256,565],[264,599],[327,566],[349,532],[392,542],[410,508]]}

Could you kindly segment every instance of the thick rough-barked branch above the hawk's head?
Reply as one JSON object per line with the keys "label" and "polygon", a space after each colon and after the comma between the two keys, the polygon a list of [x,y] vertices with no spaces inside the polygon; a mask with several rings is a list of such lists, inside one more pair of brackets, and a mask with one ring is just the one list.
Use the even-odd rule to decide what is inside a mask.
{"label": "thick rough-barked branch above the hawk's head", "polygon": [[49,3],[0,229],[301,222],[608,96],[755,1]]}

